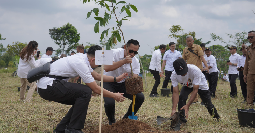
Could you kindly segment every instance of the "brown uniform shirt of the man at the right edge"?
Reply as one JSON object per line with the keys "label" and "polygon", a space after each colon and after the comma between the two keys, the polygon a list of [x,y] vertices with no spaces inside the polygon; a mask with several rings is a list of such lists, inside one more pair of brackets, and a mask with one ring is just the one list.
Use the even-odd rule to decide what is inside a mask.
{"label": "brown uniform shirt of the man at the right edge", "polygon": [[251,45],[247,50],[243,75],[255,74],[255,46]]}

